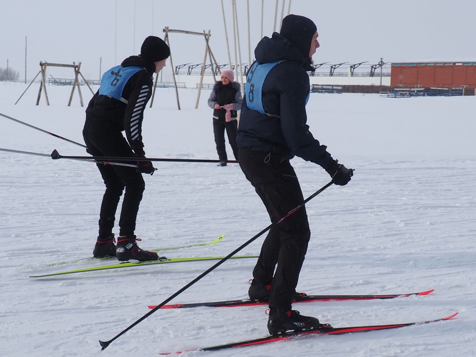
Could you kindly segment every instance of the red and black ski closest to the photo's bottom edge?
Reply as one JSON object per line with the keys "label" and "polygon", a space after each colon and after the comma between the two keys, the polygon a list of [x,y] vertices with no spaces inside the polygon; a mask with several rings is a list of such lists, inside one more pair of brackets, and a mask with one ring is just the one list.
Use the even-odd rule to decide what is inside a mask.
{"label": "red and black ski closest to the photo's bottom edge", "polygon": [[269,336],[266,336],[266,337],[254,338],[254,339],[241,341],[241,342],[235,342],[235,343],[228,343],[228,344],[225,344],[225,345],[189,349],[189,350],[186,350],[186,351],[159,353],[159,355],[171,355],[173,353],[182,353],[182,352],[188,352],[188,351],[210,351],[210,350],[232,348],[232,347],[253,346],[253,345],[260,345],[260,344],[269,343],[269,342],[296,339],[296,338],[299,338],[299,337],[304,337],[304,336],[309,336],[309,335],[341,335],[341,334],[347,334],[347,333],[351,333],[351,332],[386,330],[386,329],[389,329],[389,328],[397,328],[397,327],[404,327],[404,326],[411,326],[411,325],[427,324],[429,322],[448,320],[452,317],[455,317],[457,314],[458,313],[456,312],[453,315],[443,317],[443,318],[437,318],[435,320],[409,322],[409,323],[405,323],[405,324],[393,324],[393,325],[331,327],[330,325],[327,324],[327,325],[324,325],[324,327],[313,329],[313,330],[290,331],[290,332],[286,332],[286,333],[279,334],[279,335],[269,335]]}

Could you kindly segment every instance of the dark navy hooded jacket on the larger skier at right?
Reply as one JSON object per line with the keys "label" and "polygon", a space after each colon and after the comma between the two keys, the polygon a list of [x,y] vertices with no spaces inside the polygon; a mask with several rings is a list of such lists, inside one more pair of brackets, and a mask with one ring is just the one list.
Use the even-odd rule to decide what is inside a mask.
{"label": "dark navy hooded jacket on the larger skier at right", "polygon": [[310,61],[289,40],[277,32],[264,37],[255,49],[259,64],[282,61],[266,77],[261,91],[266,114],[248,109],[243,99],[238,126],[240,148],[294,155],[323,168],[332,160],[314,139],[306,125],[306,99],[309,94]]}

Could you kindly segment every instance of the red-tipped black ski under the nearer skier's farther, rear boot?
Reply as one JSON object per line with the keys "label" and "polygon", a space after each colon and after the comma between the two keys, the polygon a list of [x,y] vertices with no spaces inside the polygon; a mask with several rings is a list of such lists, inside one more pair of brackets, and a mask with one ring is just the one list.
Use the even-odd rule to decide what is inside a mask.
{"label": "red-tipped black ski under the nearer skier's farther, rear boot", "polygon": [[[389,295],[306,295],[304,293],[296,297],[293,302],[310,302],[310,301],[342,301],[342,300],[373,300],[373,299],[393,299],[394,297],[407,297],[411,295],[426,295],[433,292],[434,289],[428,291],[422,291],[420,293],[411,294],[389,294]],[[217,302],[199,302],[192,304],[173,304],[164,305],[160,308],[185,308],[185,307],[231,307],[231,306],[253,306],[253,305],[266,305],[268,301],[260,300],[229,300],[229,301],[217,301]],[[149,305],[149,308],[155,308],[157,305]]]}

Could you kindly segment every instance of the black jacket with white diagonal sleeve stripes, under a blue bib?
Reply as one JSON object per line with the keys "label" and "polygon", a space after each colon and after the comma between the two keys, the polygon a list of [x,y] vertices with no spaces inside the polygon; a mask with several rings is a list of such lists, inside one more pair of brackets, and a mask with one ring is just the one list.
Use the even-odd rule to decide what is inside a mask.
{"label": "black jacket with white diagonal sleeve stripes, under a blue bib", "polygon": [[131,56],[122,61],[121,66],[142,67],[143,70],[139,70],[129,78],[122,90],[121,100],[100,95],[98,90],[89,101],[86,113],[109,120],[111,126],[121,131],[125,130],[131,148],[136,152],[141,152],[144,147],[142,119],[144,109],[152,95],[152,75],[155,71],[155,64],[140,56]]}

